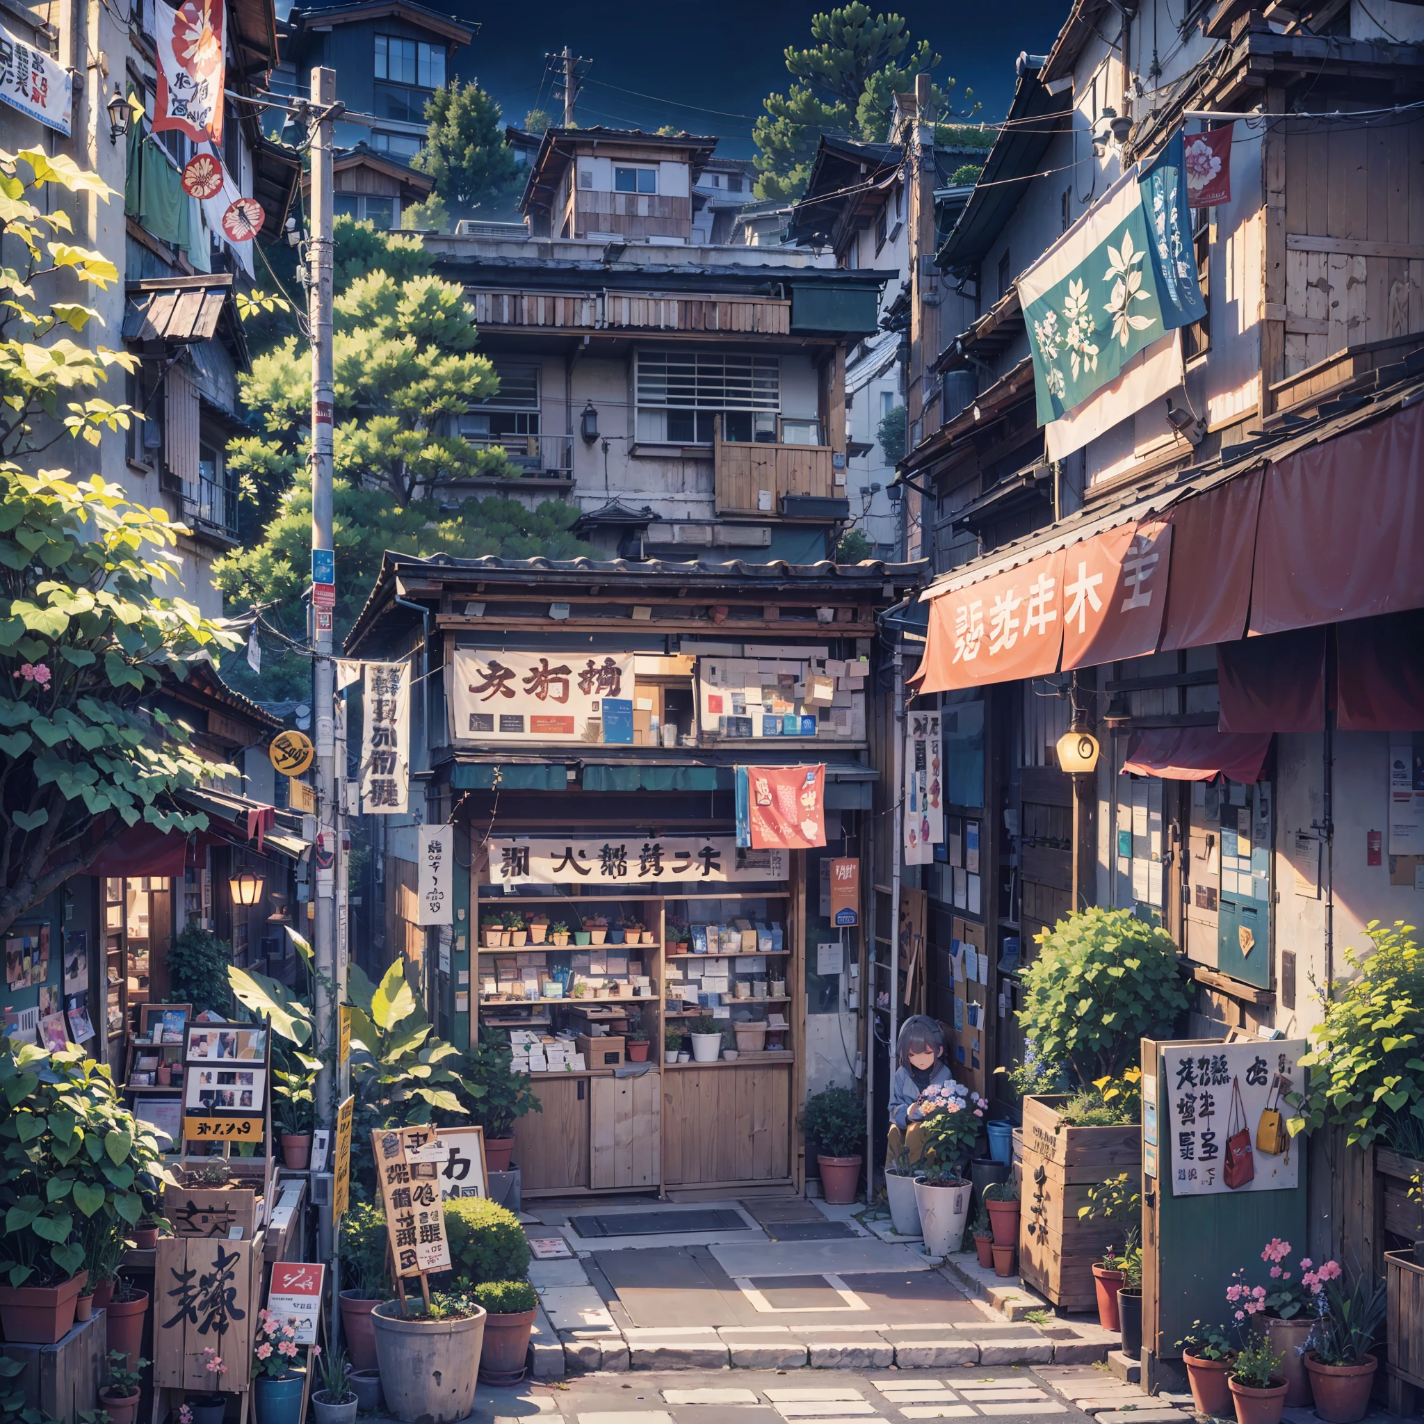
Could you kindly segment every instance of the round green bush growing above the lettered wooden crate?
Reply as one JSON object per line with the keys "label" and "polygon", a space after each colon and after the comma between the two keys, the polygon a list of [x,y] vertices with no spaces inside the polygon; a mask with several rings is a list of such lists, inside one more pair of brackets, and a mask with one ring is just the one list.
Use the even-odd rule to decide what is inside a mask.
{"label": "round green bush growing above the lettered wooden crate", "polygon": [[1129,910],[1082,910],[1037,940],[1018,1022],[1079,1088],[1122,1074],[1139,1038],[1169,1038],[1190,1002],[1172,937]]}

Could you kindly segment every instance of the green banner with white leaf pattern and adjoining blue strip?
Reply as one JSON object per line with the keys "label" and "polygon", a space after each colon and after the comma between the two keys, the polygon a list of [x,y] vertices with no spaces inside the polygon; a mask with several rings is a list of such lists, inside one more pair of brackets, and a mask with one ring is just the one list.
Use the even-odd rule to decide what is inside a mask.
{"label": "green banner with white leaf pattern and adjoining blue strip", "polygon": [[1178,134],[1018,279],[1041,426],[1115,380],[1165,332],[1206,315],[1190,221]]}

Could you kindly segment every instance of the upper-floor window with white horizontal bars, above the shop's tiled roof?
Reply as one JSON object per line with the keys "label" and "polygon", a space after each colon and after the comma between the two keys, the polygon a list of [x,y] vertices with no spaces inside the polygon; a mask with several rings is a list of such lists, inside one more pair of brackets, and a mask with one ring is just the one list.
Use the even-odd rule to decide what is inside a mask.
{"label": "upper-floor window with white horizontal bars, above the shop's tiled roof", "polygon": [[638,439],[711,444],[721,414],[723,440],[775,443],[780,375],[775,356],[639,352]]}

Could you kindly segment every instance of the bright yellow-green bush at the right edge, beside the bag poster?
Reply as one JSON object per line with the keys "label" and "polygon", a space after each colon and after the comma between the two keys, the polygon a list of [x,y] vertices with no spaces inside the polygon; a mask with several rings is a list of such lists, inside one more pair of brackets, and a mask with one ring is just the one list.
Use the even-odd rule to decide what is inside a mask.
{"label": "bright yellow-green bush at the right edge, beside the bag poster", "polygon": [[1400,1119],[1424,1122],[1424,954],[1413,924],[1371,920],[1366,933],[1371,951],[1346,950],[1356,977],[1333,987],[1310,1030],[1314,1047],[1300,1059],[1309,1084],[1289,1098],[1292,1135],[1329,1122],[1368,1148]]}

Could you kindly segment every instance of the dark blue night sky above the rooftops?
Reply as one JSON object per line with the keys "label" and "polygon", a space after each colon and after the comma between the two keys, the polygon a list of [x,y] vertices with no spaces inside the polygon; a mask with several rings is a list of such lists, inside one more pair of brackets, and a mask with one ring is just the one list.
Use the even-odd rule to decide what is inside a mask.
{"label": "dark blue night sky above the rooftops", "polygon": [[[424,3],[446,9],[440,0]],[[750,157],[752,121],[762,98],[785,93],[790,83],[782,51],[787,44],[809,44],[810,17],[829,9],[824,3],[776,0],[713,0],[705,6],[545,0],[527,10],[481,0],[457,4],[461,20],[481,26],[470,50],[459,56],[460,75],[478,77],[504,107],[507,121],[523,122],[537,103],[558,117],[544,54],[568,44],[594,61],[578,103],[581,124],[676,124],[721,135],[719,152],[728,157]],[[973,88],[984,105],[980,117],[993,120],[1002,117],[1012,97],[1020,50],[1047,53],[1069,0],[1011,0],[1002,7],[916,0],[886,9],[903,14],[911,37],[928,40],[944,57],[936,78],[954,77],[957,95]]]}

